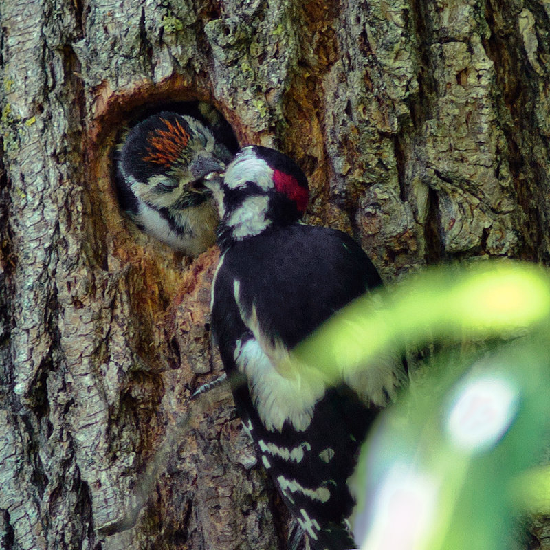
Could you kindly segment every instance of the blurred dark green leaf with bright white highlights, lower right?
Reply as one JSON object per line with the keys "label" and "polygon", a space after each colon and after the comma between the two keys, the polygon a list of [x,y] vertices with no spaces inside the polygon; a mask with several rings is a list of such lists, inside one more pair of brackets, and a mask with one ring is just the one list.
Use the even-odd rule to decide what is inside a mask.
{"label": "blurred dark green leaf with bright white highlights, lower right", "polygon": [[514,547],[518,479],[549,428],[550,350],[538,336],[465,372],[435,366],[423,397],[404,395],[382,416],[360,464],[363,549]]}

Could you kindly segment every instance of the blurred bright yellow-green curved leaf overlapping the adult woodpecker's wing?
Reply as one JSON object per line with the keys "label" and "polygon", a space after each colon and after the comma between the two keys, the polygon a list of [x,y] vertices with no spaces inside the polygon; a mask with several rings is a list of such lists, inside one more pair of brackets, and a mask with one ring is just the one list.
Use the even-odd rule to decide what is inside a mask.
{"label": "blurred bright yellow-green curved leaf overlapping the adult woodpecker's wing", "polygon": [[294,350],[329,376],[432,338],[510,336],[549,323],[550,278],[528,263],[432,268],[344,307]]}

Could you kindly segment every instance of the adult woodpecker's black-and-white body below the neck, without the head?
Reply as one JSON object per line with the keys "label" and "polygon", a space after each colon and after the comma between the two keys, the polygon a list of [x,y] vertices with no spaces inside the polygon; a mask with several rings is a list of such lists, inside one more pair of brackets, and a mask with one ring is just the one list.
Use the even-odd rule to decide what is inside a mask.
{"label": "adult woodpecker's black-and-white body below the neck, without the head", "polygon": [[344,522],[354,504],[347,479],[379,408],[345,385],[289,375],[281,365],[289,349],[381,282],[353,239],[308,225],[236,243],[215,278],[212,332],[236,406],[316,550],[353,547]]}

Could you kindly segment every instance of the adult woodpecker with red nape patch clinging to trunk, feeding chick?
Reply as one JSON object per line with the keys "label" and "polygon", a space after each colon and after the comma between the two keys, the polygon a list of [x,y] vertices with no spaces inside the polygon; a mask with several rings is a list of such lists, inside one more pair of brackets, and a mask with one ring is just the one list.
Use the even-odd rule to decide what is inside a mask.
{"label": "adult woodpecker with red nape patch clinging to trunk, feeding chick", "polygon": [[293,368],[289,351],[380,276],[347,234],[298,223],[307,179],[283,153],[245,147],[205,183],[221,219],[212,336],[237,410],[312,547],[353,548],[347,482],[404,366],[386,358],[333,386],[310,366]]}

